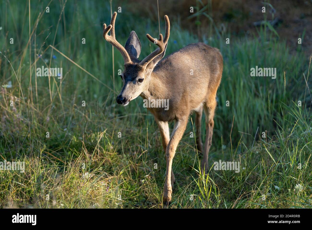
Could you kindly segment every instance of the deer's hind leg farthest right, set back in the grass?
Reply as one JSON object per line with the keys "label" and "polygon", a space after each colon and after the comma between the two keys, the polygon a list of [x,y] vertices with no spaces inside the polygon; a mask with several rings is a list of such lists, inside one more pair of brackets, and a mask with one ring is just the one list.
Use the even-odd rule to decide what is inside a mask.
{"label": "deer's hind leg farthest right, set back in the grass", "polygon": [[214,112],[216,109],[217,101],[214,95],[212,100],[207,100],[204,103],[204,112],[206,115],[205,123],[206,123],[206,140],[205,140],[205,150],[203,152],[202,162],[201,162],[201,170],[202,172],[208,171],[208,153],[209,149],[212,145],[212,134],[213,134],[213,126],[214,126]]}

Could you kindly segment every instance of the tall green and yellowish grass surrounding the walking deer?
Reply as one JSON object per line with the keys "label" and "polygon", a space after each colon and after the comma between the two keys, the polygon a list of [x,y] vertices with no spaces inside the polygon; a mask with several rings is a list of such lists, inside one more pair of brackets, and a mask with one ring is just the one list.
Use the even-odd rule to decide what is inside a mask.
{"label": "tall green and yellowish grass surrounding the walking deer", "polygon": [[[125,109],[115,103],[123,59],[115,49],[113,62],[102,38],[110,4],[42,1],[30,3],[30,14],[28,2],[22,5],[7,1],[0,9],[0,81],[9,85],[0,92],[0,158],[26,164],[25,173],[0,171],[0,207],[162,207],[166,160],[154,118],[140,98]],[[142,58],[155,49],[144,35],[157,36],[158,22],[127,7],[117,16],[116,37],[124,44],[135,30]],[[171,31],[167,55],[198,41],[174,22]],[[290,55],[265,28],[226,44],[228,37],[216,31],[201,38],[224,58],[209,176],[199,173],[192,115],[173,160],[170,207],[311,208],[311,59],[300,45]],[[62,67],[63,78],[37,77],[42,65]],[[276,79],[251,77],[256,65],[276,68]],[[240,172],[213,170],[219,160],[239,161]]]}

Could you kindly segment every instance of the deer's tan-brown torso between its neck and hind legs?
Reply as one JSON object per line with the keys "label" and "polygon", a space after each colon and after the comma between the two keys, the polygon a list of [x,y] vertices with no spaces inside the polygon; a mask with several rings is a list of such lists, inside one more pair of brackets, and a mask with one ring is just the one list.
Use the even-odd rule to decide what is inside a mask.
{"label": "deer's tan-brown torso between its neck and hind legs", "polygon": [[[169,99],[197,108],[216,94],[221,81],[223,59],[220,51],[204,43],[192,43],[160,61],[154,71],[168,86]],[[178,103],[176,103],[178,106]]]}

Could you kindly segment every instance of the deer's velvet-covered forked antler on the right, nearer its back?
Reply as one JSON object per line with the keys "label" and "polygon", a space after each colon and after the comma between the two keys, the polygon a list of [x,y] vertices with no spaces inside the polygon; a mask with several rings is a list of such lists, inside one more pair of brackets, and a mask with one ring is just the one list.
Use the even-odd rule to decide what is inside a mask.
{"label": "deer's velvet-covered forked antler on the right, nearer its back", "polygon": [[144,68],[158,55],[163,53],[163,51],[165,50],[166,44],[168,43],[168,39],[169,39],[169,35],[170,35],[170,22],[169,22],[169,18],[167,15],[165,15],[165,21],[166,21],[166,33],[165,33],[165,38],[163,39],[163,35],[160,33],[159,34],[159,39],[155,40],[154,38],[152,38],[151,35],[146,34],[146,37],[151,41],[151,42],[155,42],[156,41],[156,45],[158,46],[157,49],[154,50],[154,52],[152,52],[151,54],[149,54],[146,58],[144,58],[139,65],[143,66]]}

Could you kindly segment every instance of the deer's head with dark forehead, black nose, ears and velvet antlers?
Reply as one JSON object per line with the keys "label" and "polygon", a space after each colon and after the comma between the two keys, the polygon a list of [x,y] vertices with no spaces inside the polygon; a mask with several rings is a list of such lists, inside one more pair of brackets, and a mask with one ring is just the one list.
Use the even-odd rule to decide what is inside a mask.
{"label": "deer's head with dark forehead, black nose, ears and velvet antlers", "polygon": [[[110,25],[107,27],[106,24],[103,25],[103,37],[119,50],[124,59],[124,71],[120,75],[123,81],[123,87],[120,94],[117,96],[116,101],[118,104],[125,106],[129,104],[130,100],[137,98],[142,92],[148,89],[150,75],[158,61],[163,58],[167,48],[170,34],[170,22],[166,15],[165,38],[163,38],[162,34],[159,34],[159,39],[157,40],[152,38],[149,34],[146,34],[146,37],[151,42],[155,43],[158,48],[142,61],[139,61],[138,58],[141,53],[141,43],[134,31],[130,33],[125,47],[117,42],[115,38],[116,16],[117,13],[114,12]],[[109,31],[110,35],[108,35]]]}

